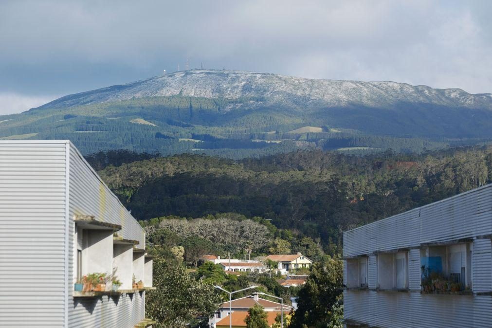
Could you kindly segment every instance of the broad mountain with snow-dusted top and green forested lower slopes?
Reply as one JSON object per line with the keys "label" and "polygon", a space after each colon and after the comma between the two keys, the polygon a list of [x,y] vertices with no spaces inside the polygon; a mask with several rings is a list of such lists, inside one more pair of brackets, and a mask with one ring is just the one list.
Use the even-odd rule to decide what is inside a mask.
{"label": "broad mountain with snow-dusted top and green forested lower slopes", "polygon": [[70,94],[0,117],[0,139],[69,139],[84,154],[420,152],[490,142],[492,94],[196,69]]}

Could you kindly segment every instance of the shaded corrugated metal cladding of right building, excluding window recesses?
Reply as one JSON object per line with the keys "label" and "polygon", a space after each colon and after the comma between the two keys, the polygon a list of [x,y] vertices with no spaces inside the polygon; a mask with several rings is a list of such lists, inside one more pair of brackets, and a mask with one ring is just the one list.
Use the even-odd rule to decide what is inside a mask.
{"label": "shaded corrugated metal cladding of right building, excluding window recesses", "polygon": [[[379,220],[343,236],[344,256],[409,248],[410,292],[345,291],[344,317],[378,327],[492,327],[492,185]],[[474,239],[473,296],[420,294],[422,243]],[[369,257],[369,282],[377,274]],[[346,266],[344,267],[346,268]],[[344,274],[346,276],[346,274]]]}

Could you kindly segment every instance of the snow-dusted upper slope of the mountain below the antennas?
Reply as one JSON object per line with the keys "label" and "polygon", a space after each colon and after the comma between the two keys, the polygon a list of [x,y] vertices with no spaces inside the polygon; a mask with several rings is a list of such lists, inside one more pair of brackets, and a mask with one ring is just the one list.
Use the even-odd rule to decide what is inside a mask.
{"label": "snow-dusted upper slope of the mountain below the antennas", "polygon": [[133,97],[172,96],[262,97],[264,103],[292,108],[303,105],[389,108],[399,103],[428,103],[492,110],[492,95],[461,89],[432,89],[396,82],[318,80],[232,70],[179,71],[148,80],[68,95],[41,107],[66,107]]}

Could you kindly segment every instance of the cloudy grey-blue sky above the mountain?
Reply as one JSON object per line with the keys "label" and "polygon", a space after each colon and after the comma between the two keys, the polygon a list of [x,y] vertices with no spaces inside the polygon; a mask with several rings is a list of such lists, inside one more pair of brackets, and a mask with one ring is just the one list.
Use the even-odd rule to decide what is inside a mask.
{"label": "cloudy grey-blue sky above the mountain", "polygon": [[492,1],[0,1],[0,115],[185,68],[492,92]]}

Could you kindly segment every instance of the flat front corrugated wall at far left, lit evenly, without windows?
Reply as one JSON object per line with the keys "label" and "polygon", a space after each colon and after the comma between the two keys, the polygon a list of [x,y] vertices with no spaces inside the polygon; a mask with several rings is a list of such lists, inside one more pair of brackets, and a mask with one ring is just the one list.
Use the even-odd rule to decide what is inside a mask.
{"label": "flat front corrugated wall at far left, lit evenly, without windows", "polygon": [[0,141],[0,326],[62,327],[63,142]]}

